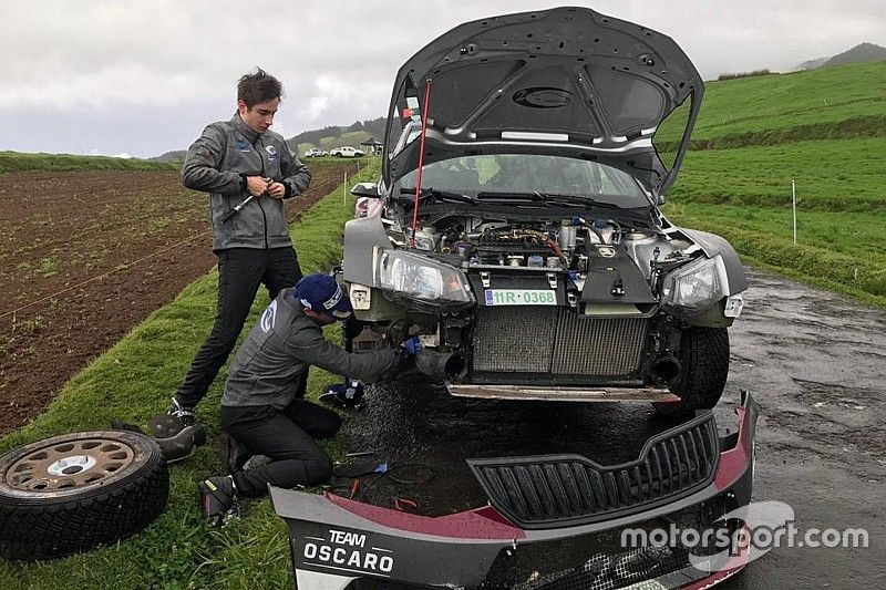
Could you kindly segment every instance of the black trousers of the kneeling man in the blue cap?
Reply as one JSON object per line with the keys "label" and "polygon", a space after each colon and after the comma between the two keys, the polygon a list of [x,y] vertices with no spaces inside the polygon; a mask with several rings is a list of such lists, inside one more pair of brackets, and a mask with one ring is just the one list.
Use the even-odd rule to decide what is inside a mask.
{"label": "black trousers of the kneeling man in the blue cap", "polygon": [[332,459],[315,442],[339,432],[341,418],[331,410],[299,398],[282,411],[271,406],[223,405],[222,426],[237,442],[240,452],[270,459],[259,467],[231,474],[240,496],[264,496],[268,484],[282,488],[316,486],[332,476]]}

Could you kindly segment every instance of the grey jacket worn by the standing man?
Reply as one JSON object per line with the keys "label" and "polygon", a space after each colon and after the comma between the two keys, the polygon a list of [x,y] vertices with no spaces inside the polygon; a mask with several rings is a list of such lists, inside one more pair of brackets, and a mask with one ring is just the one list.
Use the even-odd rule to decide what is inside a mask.
{"label": "grey jacket worn by the standing man", "polygon": [[182,183],[209,193],[213,250],[226,248],[281,248],[291,246],[281,199],[255,197],[227,224],[222,218],[249,196],[247,176],[264,176],[282,183],[284,198],[303,193],[311,173],[298,161],[282,136],[249,128],[238,113],[203,130],[187,151]]}

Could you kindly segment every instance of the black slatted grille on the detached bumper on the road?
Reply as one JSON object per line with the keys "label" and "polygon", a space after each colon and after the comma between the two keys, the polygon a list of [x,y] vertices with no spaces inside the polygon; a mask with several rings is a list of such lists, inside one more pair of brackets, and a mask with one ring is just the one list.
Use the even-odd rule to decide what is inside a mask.
{"label": "black slatted grille on the detached bumper on the road", "polygon": [[490,498],[524,528],[556,528],[638,513],[687,496],[713,478],[717,423],[705,413],[653,436],[640,458],[602,467],[580,455],[471,459]]}

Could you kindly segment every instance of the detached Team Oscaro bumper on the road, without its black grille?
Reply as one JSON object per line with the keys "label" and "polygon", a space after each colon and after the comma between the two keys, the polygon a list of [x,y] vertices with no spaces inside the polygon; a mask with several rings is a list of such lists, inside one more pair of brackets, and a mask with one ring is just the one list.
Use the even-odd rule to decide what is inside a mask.
{"label": "detached Team Oscaro bumper on the road, without its black grille", "polygon": [[577,526],[519,527],[492,505],[430,518],[271,487],[275,510],[289,526],[296,588],[710,587],[744,567],[745,552],[727,555],[717,567],[696,567],[692,562],[704,558],[689,556],[691,549],[626,548],[622,531],[667,530],[674,524],[717,527],[720,517],[751,501],[759,406],[744,394],[735,413],[738,433],[720,439],[715,472],[704,487],[642,511]]}

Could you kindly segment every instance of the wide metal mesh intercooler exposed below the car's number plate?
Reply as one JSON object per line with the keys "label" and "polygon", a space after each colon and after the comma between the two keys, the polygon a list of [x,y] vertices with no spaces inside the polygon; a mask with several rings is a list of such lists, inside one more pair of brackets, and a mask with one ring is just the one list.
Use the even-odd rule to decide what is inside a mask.
{"label": "wide metal mesh intercooler exposed below the car's number plate", "polygon": [[596,318],[560,307],[481,307],[474,371],[617,377],[636,373],[648,318]]}

